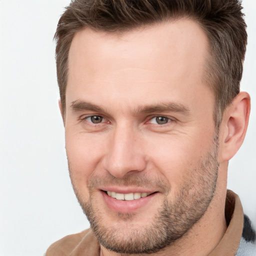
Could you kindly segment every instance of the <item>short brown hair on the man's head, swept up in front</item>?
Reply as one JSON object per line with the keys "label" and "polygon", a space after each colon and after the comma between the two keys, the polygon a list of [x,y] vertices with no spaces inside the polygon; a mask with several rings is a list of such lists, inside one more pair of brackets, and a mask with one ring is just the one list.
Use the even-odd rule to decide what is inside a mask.
{"label": "short brown hair on the man's head, swept up in front", "polygon": [[195,20],[209,40],[205,78],[215,94],[214,121],[239,93],[247,33],[239,0],[72,0],[61,15],[56,66],[62,114],[68,75],[68,52],[74,34],[84,28],[122,32],[181,17]]}

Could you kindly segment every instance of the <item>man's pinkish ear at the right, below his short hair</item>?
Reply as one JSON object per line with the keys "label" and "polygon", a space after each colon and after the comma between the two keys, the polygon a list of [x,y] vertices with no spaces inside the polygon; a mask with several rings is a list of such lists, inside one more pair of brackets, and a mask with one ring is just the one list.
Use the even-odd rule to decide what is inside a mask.
{"label": "man's pinkish ear at the right, below his short hair", "polygon": [[220,160],[228,161],[240,148],[248,126],[250,96],[239,92],[223,114],[220,132]]}

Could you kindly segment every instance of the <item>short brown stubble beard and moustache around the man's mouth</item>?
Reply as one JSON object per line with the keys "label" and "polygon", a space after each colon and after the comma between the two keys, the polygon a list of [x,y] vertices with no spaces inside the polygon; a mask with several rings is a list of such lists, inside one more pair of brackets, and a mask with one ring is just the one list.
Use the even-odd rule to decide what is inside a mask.
{"label": "short brown stubble beard and moustache around the man's mouth", "polygon": [[[154,185],[161,186],[165,191],[164,199],[149,226],[132,225],[132,214],[118,213],[117,218],[125,220],[125,227],[110,226],[103,220],[104,213],[94,206],[93,187],[105,180],[117,184],[143,184],[150,181],[137,175],[125,179],[115,177],[94,177],[89,183],[89,199],[84,201],[73,184],[76,197],[87,216],[92,231],[101,246],[114,252],[138,254],[154,253],[182,237],[195,224],[207,210],[215,192],[219,163],[218,137],[214,136],[212,148],[207,152],[197,166],[191,171],[189,177],[184,177],[184,183],[174,200],[168,199],[171,187],[166,182],[152,181]],[[70,176],[71,168],[69,166]],[[188,174],[189,175],[189,174]],[[73,182],[72,182],[73,183]],[[115,227],[114,227],[115,226]]]}

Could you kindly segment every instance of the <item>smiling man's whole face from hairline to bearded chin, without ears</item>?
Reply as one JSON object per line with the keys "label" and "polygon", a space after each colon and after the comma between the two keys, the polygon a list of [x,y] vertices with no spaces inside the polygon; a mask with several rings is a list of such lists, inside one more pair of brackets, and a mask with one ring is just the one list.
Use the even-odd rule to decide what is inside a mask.
{"label": "smiling man's whole face from hairline to bearded chin, without ears", "polygon": [[157,251],[206,211],[218,170],[206,57],[206,35],[191,20],[74,36],[66,152],[74,191],[104,247]]}

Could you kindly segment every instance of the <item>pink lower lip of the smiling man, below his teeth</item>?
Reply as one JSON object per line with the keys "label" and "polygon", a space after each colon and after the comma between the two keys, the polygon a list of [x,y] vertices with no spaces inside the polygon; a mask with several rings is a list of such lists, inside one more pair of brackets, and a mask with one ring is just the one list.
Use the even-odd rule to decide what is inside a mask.
{"label": "pink lower lip of the smiling man, below his teeth", "polygon": [[101,191],[101,194],[102,194],[103,200],[105,201],[109,209],[115,212],[129,213],[147,204],[157,193],[152,193],[147,195],[146,197],[141,197],[139,199],[134,199],[130,201],[117,200],[107,195],[104,191]]}

